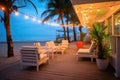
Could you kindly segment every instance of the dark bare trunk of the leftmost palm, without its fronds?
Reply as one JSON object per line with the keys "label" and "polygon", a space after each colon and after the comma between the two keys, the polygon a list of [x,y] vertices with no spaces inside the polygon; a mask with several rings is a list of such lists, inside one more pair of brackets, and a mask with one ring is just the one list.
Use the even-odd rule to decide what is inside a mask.
{"label": "dark bare trunk of the leftmost palm, without its fronds", "polygon": [[4,12],[4,26],[6,29],[6,38],[7,38],[7,56],[12,57],[14,56],[14,51],[13,51],[13,42],[11,38],[11,32],[10,32],[10,13],[9,12]]}

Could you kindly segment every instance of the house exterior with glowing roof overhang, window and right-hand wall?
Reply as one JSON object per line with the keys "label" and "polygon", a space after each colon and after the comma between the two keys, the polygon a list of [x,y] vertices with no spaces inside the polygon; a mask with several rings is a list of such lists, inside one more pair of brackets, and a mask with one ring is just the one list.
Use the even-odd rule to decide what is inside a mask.
{"label": "house exterior with glowing roof overhang, window and right-hand wall", "polygon": [[71,0],[81,25],[91,28],[94,22],[103,22],[111,34],[112,59],[115,76],[120,77],[120,1]]}

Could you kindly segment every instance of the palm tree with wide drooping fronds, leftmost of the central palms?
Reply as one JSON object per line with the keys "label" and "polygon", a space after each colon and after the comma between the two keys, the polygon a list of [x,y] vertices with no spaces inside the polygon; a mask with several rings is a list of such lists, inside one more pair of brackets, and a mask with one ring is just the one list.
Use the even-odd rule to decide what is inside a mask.
{"label": "palm tree with wide drooping fronds, leftmost of the central palms", "polygon": [[66,29],[64,26],[64,12],[68,0],[49,0],[47,9],[41,14],[44,17],[43,23],[49,19],[61,21],[64,30],[64,39],[66,39]]}

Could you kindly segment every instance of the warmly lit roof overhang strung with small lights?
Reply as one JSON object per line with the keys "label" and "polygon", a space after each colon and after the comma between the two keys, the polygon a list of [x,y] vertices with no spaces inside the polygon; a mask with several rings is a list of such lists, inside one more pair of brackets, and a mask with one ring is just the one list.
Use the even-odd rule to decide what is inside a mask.
{"label": "warmly lit roof overhang strung with small lights", "polygon": [[81,25],[103,22],[120,8],[119,0],[71,0]]}

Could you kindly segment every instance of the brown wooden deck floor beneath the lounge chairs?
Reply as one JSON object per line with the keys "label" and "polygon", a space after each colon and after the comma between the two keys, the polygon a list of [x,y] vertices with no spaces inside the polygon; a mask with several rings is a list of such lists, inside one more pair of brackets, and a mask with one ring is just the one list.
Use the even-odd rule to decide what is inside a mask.
{"label": "brown wooden deck floor beneath the lounge chairs", "polygon": [[90,62],[90,59],[77,61],[76,51],[76,46],[71,43],[66,54],[56,54],[50,64],[41,65],[38,72],[35,67],[21,70],[17,60],[0,70],[0,80],[119,80],[110,67],[99,71],[96,62]]}

